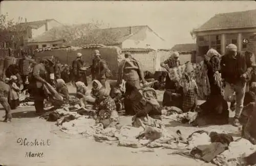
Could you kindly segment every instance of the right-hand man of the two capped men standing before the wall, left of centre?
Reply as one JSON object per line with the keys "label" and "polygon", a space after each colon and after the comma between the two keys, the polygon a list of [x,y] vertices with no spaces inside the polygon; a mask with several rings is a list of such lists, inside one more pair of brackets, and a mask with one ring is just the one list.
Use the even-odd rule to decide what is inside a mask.
{"label": "right-hand man of the two capped men standing before the wall, left of centre", "polygon": [[98,50],[94,51],[91,72],[93,80],[98,80],[106,89],[110,90],[110,85],[106,80],[110,78],[112,74],[108,64],[104,59],[101,58]]}

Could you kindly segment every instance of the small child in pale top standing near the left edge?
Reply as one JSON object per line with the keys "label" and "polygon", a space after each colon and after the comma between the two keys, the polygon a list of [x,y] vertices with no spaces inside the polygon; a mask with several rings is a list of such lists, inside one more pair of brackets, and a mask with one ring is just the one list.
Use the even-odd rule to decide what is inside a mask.
{"label": "small child in pale top standing near the left edge", "polygon": [[11,106],[11,109],[16,109],[17,106],[19,106],[19,95],[20,92],[19,87],[17,86],[17,77],[11,76],[9,85],[11,87],[10,97],[9,97],[9,104]]}

